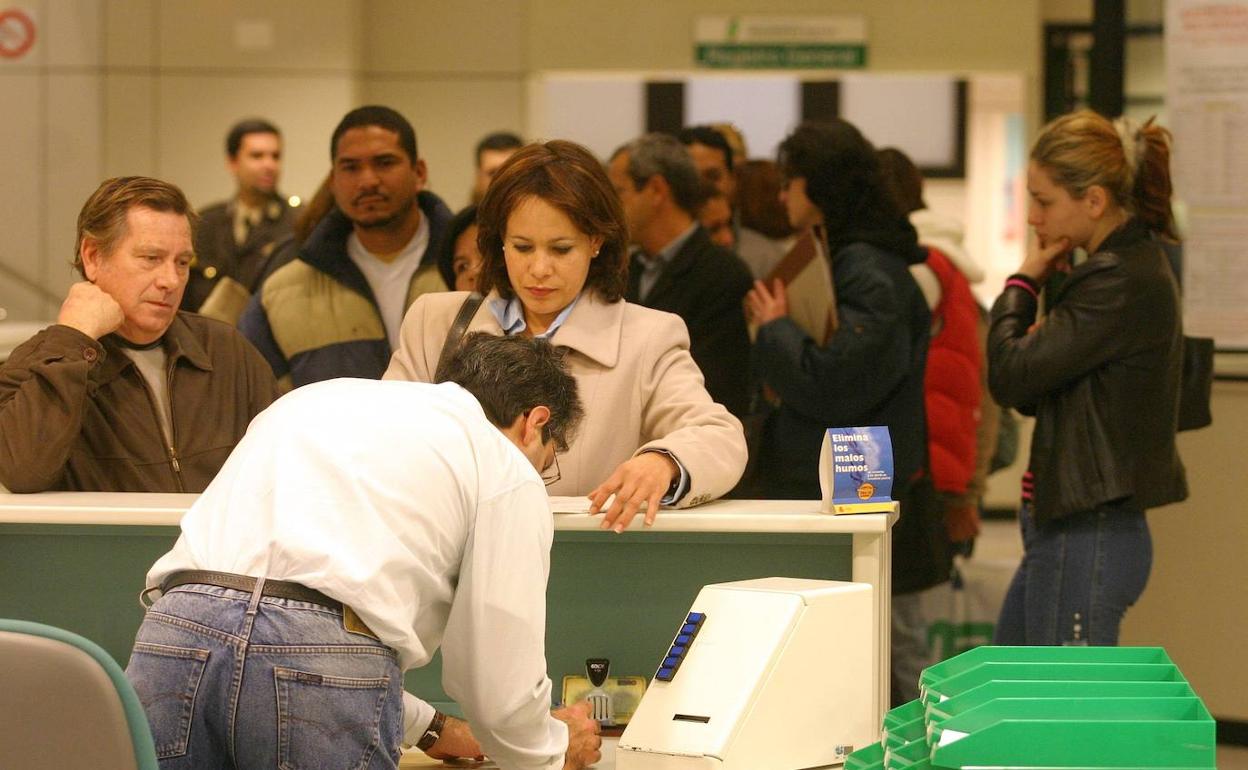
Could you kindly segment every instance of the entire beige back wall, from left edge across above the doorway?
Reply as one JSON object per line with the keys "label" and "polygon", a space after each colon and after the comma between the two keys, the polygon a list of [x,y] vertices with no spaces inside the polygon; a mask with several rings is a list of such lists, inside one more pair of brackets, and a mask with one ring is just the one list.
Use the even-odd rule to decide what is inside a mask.
{"label": "entire beige back wall, from left edge across above the doorway", "polygon": [[1018,72],[1032,121],[1042,21],[1038,0],[9,5],[39,25],[30,54],[0,60],[0,308],[21,319],[55,317],[74,280],[66,263],[77,210],[102,178],[156,175],[182,186],[195,205],[222,198],[231,192],[225,132],[243,116],[283,129],[282,187],[306,197],[328,171],[328,139],[342,114],[391,104],[417,129],[432,188],[458,207],[477,140],[524,130],[533,72],[690,69],[698,15],[861,14],[871,70]]}

